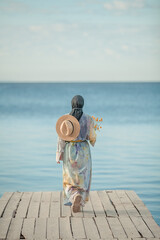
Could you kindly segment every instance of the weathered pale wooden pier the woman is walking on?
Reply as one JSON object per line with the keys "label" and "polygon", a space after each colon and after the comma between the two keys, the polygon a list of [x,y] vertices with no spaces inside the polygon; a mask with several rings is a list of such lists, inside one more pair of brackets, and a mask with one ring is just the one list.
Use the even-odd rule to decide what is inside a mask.
{"label": "weathered pale wooden pier the woman is walking on", "polygon": [[62,192],[6,192],[0,198],[0,240],[158,240],[160,227],[131,190],[91,191],[79,213]]}

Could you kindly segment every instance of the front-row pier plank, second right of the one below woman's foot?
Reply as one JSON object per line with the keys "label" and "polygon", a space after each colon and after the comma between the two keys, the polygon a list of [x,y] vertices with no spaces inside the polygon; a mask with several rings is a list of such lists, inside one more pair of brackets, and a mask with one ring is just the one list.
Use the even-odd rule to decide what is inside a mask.
{"label": "front-row pier plank, second right of the one below woman's foot", "polygon": [[106,238],[106,236],[107,236],[107,238],[113,239],[113,234],[110,230],[110,227],[108,225],[106,218],[105,217],[95,217],[94,219],[95,219],[96,225],[98,227],[100,237]]}

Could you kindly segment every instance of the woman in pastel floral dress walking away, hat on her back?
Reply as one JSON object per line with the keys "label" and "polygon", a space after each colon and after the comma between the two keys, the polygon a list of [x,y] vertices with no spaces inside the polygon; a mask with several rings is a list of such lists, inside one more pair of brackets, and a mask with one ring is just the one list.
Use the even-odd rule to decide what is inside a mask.
{"label": "woman in pastel floral dress walking away, hat on her back", "polygon": [[60,117],[56,124],[59,135],[56,161],[63,161],[63,197],[65,205],[79,212],[88,201],[92,177],[89,142],[94,146],[96,132],[91,116],[83,112],[84,99],[80,95],[71,101],[72,111]]}

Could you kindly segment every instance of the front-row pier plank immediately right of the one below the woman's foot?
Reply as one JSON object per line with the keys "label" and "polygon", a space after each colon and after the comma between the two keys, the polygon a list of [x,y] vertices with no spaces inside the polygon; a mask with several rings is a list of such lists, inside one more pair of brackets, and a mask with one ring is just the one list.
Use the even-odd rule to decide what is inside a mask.
{"label": "front-row pier plank immediately right of the one below the woman's foot", "polygon": [[83,218],[83,223],[84,223],[84,228],[85,228],[87,238],[90,238],[90,239],[100,238],[97,226],[93,218]]}

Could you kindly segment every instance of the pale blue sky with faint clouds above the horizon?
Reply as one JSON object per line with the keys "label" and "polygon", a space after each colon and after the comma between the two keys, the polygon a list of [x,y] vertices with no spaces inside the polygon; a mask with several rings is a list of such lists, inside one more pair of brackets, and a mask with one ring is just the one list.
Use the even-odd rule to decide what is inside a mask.
{"label": "pale blue sky with faint clouds above the horizon", "polygon": [[160,81],[159,0],[0,0],[0,82]]}

